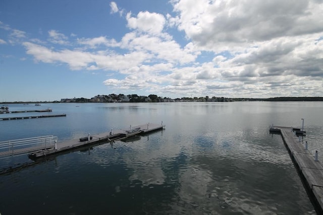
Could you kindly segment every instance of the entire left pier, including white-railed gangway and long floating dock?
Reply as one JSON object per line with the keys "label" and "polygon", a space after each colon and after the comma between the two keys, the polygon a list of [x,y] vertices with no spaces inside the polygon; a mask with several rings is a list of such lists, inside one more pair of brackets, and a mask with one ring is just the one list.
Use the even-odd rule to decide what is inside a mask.
{"label": "entire left pier, including white-railed gangway and long floating dock", "polygon": [[[35,160],[37,158],[55,155],[67,151],[72,151],[78,148],[93,146],[100,142],[115,142],[117,140],[124,140],[138,134],[145,134],[165,128],[163,123],[153,124],[147,123],[143,125],[130,126],[125,129],[111,129],[109,132],[90,135],[87,138],[71,139],[59,142],[57,137],[46,136],[45,144],[40,144],[40,138],[26,138],[19,140],[8,140],[0,142],[0,157],[17,156],[21,154],[28,154],[28,157]],[[43,139],[44,137],[41,137]],[[85,138],[85,141],[83,140]],[[36,144],[33,144],[33,141]],[[43,140],[42,140],[43,141]],[[23,143],[23,145],[21,145]],[[27,144],[26,144],[27,143]],[[28,145],[28,147],[27,147]]]}

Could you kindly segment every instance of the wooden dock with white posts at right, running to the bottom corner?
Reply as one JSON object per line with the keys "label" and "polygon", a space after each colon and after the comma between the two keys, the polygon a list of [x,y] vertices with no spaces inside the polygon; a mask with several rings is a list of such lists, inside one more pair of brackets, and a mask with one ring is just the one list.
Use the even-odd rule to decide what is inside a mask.
{"label": "wooden dock with white posts at right, running to the bottom corner", "polygon": [[282,135],[317,214],[323,214],[323,165],[307,150],[307,142],[299,141],[297,136],[303,136],[304,132],[283,126],[271,126],[270,132]]}

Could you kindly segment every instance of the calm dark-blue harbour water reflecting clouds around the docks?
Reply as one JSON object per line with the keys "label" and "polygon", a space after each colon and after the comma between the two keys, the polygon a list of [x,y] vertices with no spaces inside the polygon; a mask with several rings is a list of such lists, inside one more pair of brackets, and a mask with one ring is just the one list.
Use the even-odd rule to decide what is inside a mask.
{"label": "calm dark-blue harbour water reflecting clouds around the docks", "polygon": [[[76,107],[79,106],[79,107]],[[0,175],[6,214],[315,214],[282,138],[301,126],[323,153],[323,102],[15,104],[66,117],[0,121],[0,141],[60,140],[147,122],[166,129],[39,161]],[[15,116],[36,115],[14,114]],[[9,117],[1,114],[0,117]],[[322,156],[319,156],[322,160]],[[0,160],[1,168],[30,162]]]}

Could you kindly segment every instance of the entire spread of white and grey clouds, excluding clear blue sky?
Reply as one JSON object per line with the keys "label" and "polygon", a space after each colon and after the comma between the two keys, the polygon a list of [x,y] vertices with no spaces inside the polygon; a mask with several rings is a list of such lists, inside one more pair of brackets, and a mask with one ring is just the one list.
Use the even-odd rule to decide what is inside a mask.
{"label": "entire spread of white and grey clouds, excluding clear blue sky", "polygon": [[[0,22],[8,31],[0,43],[23,42],[36,61],[105,70],[109,79],[103,83],[114,92],[266,97],[286,89],[323,95],[321,1],[171,3],[172,15],[128,13],[124,25],[129,29],[118,38],[75,38],[73,33],[68,38],[50,30],[48,41],[55,44],[50,47]],[[121,13],[115,2],[110,7],[111,13]]]}

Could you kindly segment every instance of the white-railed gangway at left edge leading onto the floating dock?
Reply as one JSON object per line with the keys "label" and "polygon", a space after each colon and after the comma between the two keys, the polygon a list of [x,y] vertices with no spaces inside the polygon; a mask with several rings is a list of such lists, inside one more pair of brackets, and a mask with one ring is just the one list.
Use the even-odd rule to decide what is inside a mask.
{"label": "white-railed gangway at left edge leading onto the floating dock", "polygon": [[[55,147],[57,136],[36,136],[24,139],[0,141],[0,154],[16,155],[29,152],[28,149],[47,149]],[[26,151],[24,150],[26,149]]]}

